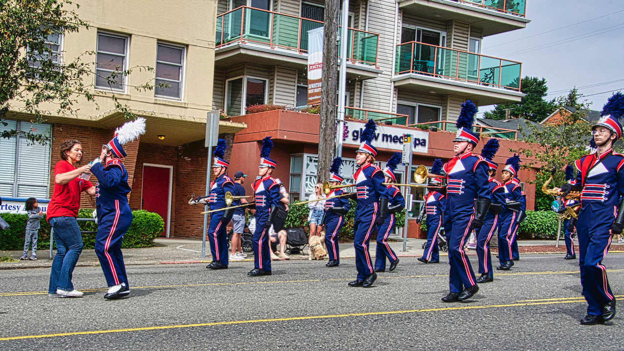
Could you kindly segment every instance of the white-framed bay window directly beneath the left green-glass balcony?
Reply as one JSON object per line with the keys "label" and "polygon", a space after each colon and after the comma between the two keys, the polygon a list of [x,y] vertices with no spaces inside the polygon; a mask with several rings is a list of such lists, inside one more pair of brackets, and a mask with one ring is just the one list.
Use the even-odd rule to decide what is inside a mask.
{"label": "white-framed bay window directly beneath the left green-glass balcony", "polygon": [[266,103],[267,87],[268,80],[256,77],[244,76],[226,80],[225,111],[230,116],[244,115],[243,107]]}

